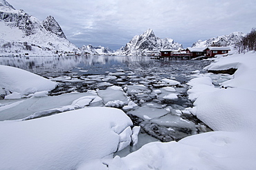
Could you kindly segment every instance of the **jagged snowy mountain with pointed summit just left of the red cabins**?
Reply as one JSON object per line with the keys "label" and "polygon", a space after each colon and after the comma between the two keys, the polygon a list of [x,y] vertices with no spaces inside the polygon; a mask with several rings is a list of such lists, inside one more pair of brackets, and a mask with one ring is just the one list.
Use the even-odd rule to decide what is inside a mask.
{"label": "jagged snowy mountain with pointed summit just left of the red cabins", "polygon": [[143,34],[134,36],[124,48],[119,50],[119,54],[145,56],[148,53],[159,52],[159,50],[178,50],[179,48],[182,48],[180,43],[175,43],[173,39],[161,39],[154,34],[153,30],[148,29]]}

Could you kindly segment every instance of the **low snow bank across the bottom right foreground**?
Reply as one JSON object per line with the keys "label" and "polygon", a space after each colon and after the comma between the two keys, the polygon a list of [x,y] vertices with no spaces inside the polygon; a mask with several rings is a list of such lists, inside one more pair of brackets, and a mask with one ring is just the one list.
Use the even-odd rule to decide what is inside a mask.
{"label": "low snow bank across the bottom right foreground", "polygon": [[[244,137],[242,134],[239,137]],[[214,131],[189,136],[179,142],[151,142],[125,158],[116,156],[109,170],[140,169],[255,169],[255,147],[236,133]]]}

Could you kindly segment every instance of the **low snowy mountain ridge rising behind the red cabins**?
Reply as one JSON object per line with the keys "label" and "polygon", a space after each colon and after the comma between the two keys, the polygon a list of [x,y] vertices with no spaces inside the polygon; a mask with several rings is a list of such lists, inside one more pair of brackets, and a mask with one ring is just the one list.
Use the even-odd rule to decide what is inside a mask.
{"label": "low snowy mountain ridge rising behind the red cabins", "polygon": [[228,46],[235,47],[235,43],[239,41],[242,36],[245,36],[245,35],[246,34],[242,32],[232,32],[229,35],[217,36],[216,38],[213,37],[205,41],[202,41],[202,40],[196,41],[195,43],[193,43],[192,47],[208,47],[212,45],[212,43],[216,43],[220,39],[224,39],[225,41],[227,41]]}

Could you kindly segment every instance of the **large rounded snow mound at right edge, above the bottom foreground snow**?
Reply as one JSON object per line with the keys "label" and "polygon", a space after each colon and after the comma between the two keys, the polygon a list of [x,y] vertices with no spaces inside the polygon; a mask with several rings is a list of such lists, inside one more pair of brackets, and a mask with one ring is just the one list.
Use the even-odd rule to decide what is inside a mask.
{"label": "large rounded snow mound at right edge, above the bottom foreground snow", "polygon": [[256,92],[248,89],[219,89],[202,94],[194,102],[196,116],[214,130],[256,129]]}

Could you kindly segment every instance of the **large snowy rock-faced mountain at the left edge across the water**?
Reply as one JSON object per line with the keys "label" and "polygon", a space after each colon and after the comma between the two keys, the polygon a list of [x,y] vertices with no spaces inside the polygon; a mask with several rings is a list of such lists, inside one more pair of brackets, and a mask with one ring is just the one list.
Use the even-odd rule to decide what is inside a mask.
{"label": "large snowy rock-faced mountain at the left edge across the water", "polygon": [[80,50],[66,39],[62,28],[51,16],[44,21],[24,10],[15,10],[0,0],[0,54],[52,55]]}

